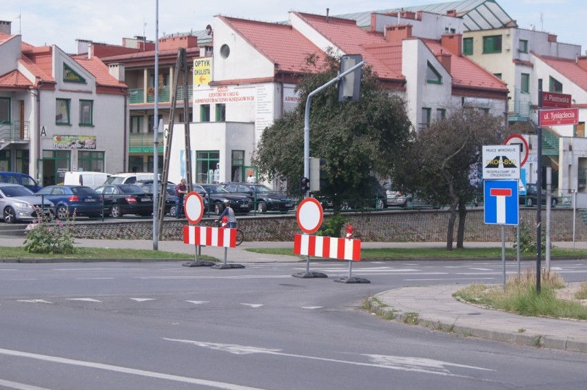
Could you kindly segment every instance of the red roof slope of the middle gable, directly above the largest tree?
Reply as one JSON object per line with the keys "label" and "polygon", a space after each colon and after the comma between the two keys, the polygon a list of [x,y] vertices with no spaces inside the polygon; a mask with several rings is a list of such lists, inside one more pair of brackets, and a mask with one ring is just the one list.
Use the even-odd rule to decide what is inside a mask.
{"label": "red roof slope of the middle gable, directly above the largest tree", "polygon": [[366,48],[373,47],[374,45],[383,46],[389,44],[385,41],[382,34],[371,34],[364,31],[358,27],[356,21],[350,19],[305,14],[302,12],[294,12],[294,14],[298,15],[308,25],[311,25],[314,30],[322,34],[325,39],[333,43],[344,54],[362,54],[367,65],[371,65],[373,72],[377,73],[381,79],[404,81],[401,69],[399,72],[397,70],[397,63],[395,67],[390,67],[380,60],[381,52],[375,55],[366,50]]}

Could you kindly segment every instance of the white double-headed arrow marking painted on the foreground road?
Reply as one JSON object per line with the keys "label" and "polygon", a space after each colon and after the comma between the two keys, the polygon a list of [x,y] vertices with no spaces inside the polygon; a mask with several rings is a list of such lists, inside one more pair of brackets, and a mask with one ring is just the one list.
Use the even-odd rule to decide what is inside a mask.
{"label": "white double-headed arrow marking painted on the foreground road", "polygon": [[281,349],[267,349],[267,348],[249,347],[247,345],[220,344],[218,342],[180,340],[180,339],[174,339],[174,338],[163,338],[163,340],[183,342],[185,344],[197,345],[198,347],[214,349],[216,351],[225,351],[225,352],[229,352],[229,353],[234,353],[236,355],[249,355],[251,353],[267,353],[269,355],[287,356],[290,358],[320,360],[323,362],[343,363],[343,364],[347,364],[347,365],[356,365],[356,366],[364,366],[364,367],[379,367],[379,368],[383,368],[383,369],[394,369],[394,370],[400,370],[400,371],[415,371],[415,372],[421,372],[421,373],[432,373],[435,375],[442,375],[442,376],[455,376],[455,377],[460,377],[460,378],[468,378],[468,377],[458,375],[458,374],[453,374],[448,369],[445,369],[444,366],[462,367],[462,368],[467,368],[467,369],[475,369],[475,370],[483,370],[483,371],[495,371],[493,369],[485,369],[483,367],[457,365],[457,364],[454,364],[451,362],[443,362],[442,360],[433,360],[433,359],[426,359],[426,358],[411,358],[411,357],[404,357],[404,356],[385,356],[385,355],[363,354],[362,356],[367,356],[372,361],[369,363],[365,363],[365,362],[352,362],[349,360],[340,360],[340,359],[331,359],[331,358],[319,358],[317,356],[298,355],[295,353],[284,353],[284,352],[281,352]]}

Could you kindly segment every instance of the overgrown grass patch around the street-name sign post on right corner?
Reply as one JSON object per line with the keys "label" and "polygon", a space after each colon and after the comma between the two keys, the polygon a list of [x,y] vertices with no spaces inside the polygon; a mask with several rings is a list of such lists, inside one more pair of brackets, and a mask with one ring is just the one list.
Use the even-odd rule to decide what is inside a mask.
{"label": "overgrown grass patch around the street-name sign post on right corner", "polygon": [[502,286],[472,284],[453,295],[467,302],[522,316],[587,320],[587,307],[581,302],[557,298],[557,290],[564,287],[564,280],[558,274],[543,269],[540,287],[540,294],[537,294],[535,272],[527,269],[520,277],[508,278],[505,291]]}

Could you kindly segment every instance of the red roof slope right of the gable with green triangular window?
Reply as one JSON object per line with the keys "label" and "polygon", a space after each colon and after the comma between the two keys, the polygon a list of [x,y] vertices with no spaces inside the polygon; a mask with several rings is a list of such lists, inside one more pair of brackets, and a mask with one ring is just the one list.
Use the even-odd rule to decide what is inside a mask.
{"label": "red roof slope right of the gable with green triangular window", "polygon": [[426,46],[434,55],[441,53],[452,54],[450,73],[453,77],[453,85],[456,87],[507,91],[506,84],[497,76],[489,73],[467,57],[458,56],[451,52],[448,48],[442,46],[440,41],[432,39],[422,39],[422,41],[426,43]]}

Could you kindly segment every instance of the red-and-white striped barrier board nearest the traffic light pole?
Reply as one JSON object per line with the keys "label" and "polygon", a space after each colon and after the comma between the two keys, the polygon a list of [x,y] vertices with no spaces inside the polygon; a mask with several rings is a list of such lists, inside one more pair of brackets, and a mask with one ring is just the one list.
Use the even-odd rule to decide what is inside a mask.
{"label": "red-and-white striped barrier board nearest the traffic light pole", "polygon": [[360,261],[361,240],[296,234],[294,254]]}

